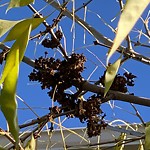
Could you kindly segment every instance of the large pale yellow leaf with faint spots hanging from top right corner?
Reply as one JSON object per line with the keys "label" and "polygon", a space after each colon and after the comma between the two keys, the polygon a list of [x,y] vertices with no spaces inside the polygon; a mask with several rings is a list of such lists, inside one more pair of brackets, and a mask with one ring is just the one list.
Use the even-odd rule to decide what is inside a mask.
{"label": "large pale yellow leaf with faint spots hanging from top right corner", "polygon": [[107,64],[110,57],[129,34],[139,17],[142,15],[150,0],[127,0],[118,23],[114,44],[108,52]]}

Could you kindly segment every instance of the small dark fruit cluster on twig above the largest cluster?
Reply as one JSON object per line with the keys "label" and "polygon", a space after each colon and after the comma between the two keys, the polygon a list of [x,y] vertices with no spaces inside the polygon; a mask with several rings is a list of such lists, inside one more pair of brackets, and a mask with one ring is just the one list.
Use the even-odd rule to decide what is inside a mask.
{"label": "small dark fruit cluster on twig above the largest cluster", "polygon": [[55,35],[56,38],[54,36],[51,36],[51,39],[44,39],[42,41],[42,45],[47,48],[57,48],[60,44],[60,40],[62,39],[63,34],[60,30],[57,30],[55,32]]}

